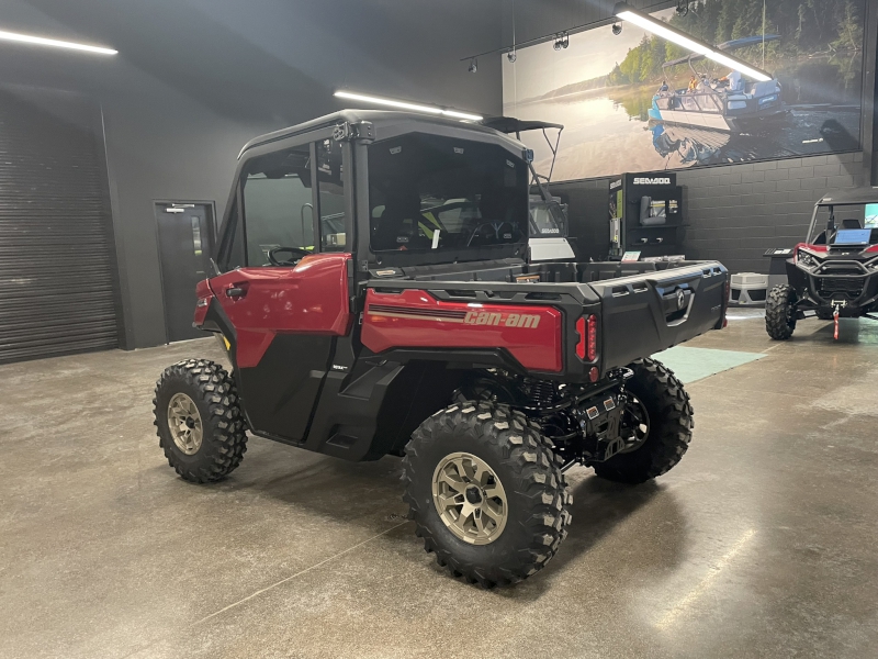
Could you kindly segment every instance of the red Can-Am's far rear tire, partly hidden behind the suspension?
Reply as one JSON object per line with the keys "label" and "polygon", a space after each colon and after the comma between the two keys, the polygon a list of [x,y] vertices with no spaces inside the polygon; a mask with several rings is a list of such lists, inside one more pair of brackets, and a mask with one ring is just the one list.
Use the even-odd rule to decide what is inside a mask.
{"label": "red Can-Am's far rear tire, partly hidden behind the suspension", "polygon": [[683,382],[655,359],[638,359],[630,366],[634,377],[626,390],[646,410],[649,429],[643,443],[630,453],[621,453],[595,465],[600,478],[622,483],[642,483],[666,473],[683,458],[693,437],[689,395]]}

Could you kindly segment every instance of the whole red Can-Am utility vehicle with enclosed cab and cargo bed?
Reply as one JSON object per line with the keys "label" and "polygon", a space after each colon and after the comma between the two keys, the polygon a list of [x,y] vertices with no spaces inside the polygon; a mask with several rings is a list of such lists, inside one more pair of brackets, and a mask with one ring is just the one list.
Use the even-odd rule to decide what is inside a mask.
{"label": "whole red Can-Am utility vehicle with enclosed cab and cargo bed", "polygon": [[250,142],[196,290],[195,325],[234,370],[189,359],[156,388],[177,472],[223,478],[247,433],[404,456],[426,549],[489,587],[558,550],[569,467],[629,483],[674,467],[693,409],[649,356],[723,326],[728,273],[528,264],[530,159],[495,130],[401,112]]}

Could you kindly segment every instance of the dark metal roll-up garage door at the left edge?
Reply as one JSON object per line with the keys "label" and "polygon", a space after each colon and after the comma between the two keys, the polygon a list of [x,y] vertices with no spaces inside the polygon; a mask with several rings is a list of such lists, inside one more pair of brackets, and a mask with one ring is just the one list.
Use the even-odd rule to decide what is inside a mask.
{"label": "dark metal roll-up garage door at the left edge", "polygon": [[0,89],[0,364],[119,345],[99,108]]}

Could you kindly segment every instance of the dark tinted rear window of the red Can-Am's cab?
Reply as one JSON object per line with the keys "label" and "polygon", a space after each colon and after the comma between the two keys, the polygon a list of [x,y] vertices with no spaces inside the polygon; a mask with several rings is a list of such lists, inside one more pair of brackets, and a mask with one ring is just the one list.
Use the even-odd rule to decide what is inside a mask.
{"label": "dark tinted rear window of the red Can-Am's cab", "polygon": [[496,144],[410,133],[369,146],[372,252],[522,243],[528,166]]}

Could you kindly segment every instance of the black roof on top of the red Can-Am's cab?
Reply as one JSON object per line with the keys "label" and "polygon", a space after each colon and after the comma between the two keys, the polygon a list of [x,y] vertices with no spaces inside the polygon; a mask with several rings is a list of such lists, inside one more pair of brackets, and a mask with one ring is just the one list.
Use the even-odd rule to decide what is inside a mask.
{"label": "black roof on top of the red Can-Am's cab", "polygon": [[268,144],[270,142],[278,142],[279,139],[284,139],[302,133],[309,133],[311,131],[317,131],[319,129],[335,126],[345,122],[357,123],[359,121],[368,121],[372,123],[375,129],[376,139],[381,139],[382,127],[406,123],[416,125],[420,124],[424,126],[447,126],[451,129],[489,134],[506,142],[506,147],[510,150],[514,150],[514,145],[518,145],[519,148],[525,148],[525,146],[515,138],[508,137],[507,135],[502,135],[494,129],[483,126],[480,123],[464,122],[459,119],[444,119],[442,116],[435,116],[432,114],[424,114],[420,112],[402,112],[396,110],[340,110],[339,112],[319,116],[317,119],[290,126],[289,129],[281,129],[280,131],[274,131],[273,133],[267,133],[264,135],[260,135],[259,137],[255,137],[244,145],[244,148],[240,149],[240,153],[238,154],[238,158],[240,158],[247,149],[255,146]]}

